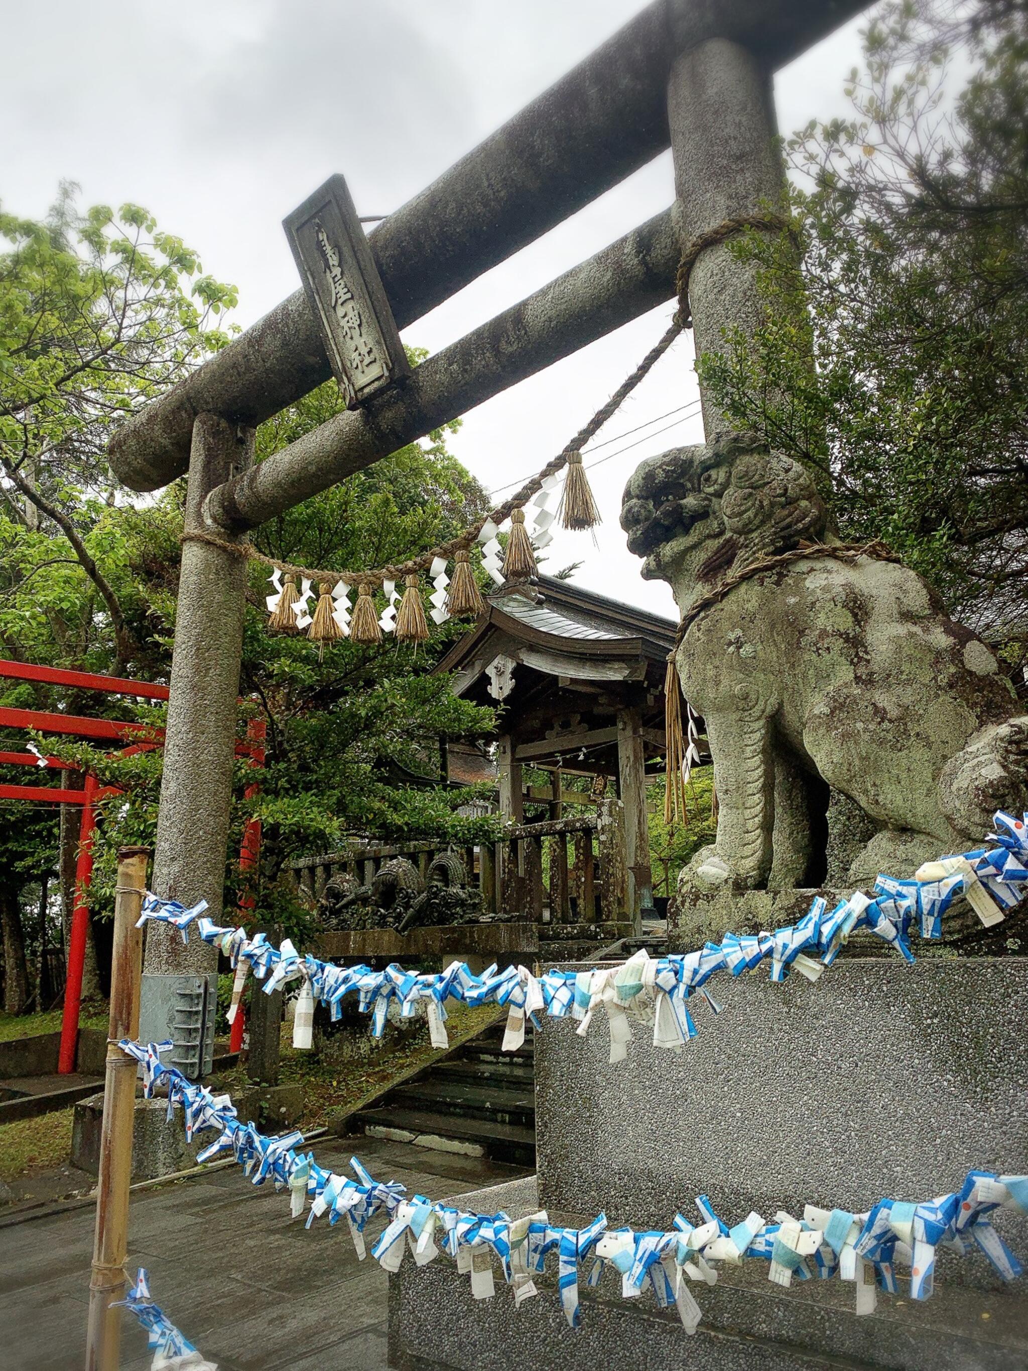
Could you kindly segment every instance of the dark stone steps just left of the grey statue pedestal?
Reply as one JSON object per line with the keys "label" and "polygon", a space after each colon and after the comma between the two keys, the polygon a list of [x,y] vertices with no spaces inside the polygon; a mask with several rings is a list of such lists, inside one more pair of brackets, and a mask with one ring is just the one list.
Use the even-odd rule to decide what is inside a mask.
{"label": "dark stone steps just left of the grey statue pedestal", "polygon": [[532,1030],[502,1052],[503,1024],[404,1080],[350,1120],[355,1132],[532,1167],[536,1097]]}

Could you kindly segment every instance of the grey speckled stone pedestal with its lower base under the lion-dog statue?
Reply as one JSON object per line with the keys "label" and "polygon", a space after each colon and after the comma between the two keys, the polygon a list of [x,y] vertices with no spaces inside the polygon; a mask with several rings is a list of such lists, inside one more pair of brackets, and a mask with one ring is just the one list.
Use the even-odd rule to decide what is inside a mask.
{"label": "grey speckled stone pedestal with its lower base under the lion-dog statue", "polygon": [[[711,986],[724,1012],[696,1005],[699,1036],[681,1056],[635,1030],[629,1060],[610,1065],[602,1015],[587,1039],[569,1021],[536,1036],[539,1176],[461,1196],[462,1208],[511,1216],[546,1208],[580,1224],[694,1222],[707,1194],[729,1222],[806,1202],[854,1211],[883,1196],[921,1200],[972,1167],[1028,1171],[1028,960],[837,962],[818,984],[766,975]],[[1028,1219],[996,1223],[1028,1253]],[[794,1282],[783,1290],[751,1261],[721,1268],[694,1293],[703,1323],[689,1338],[651,1294],[621,1298],[607,1274],[583,1289],[583,1326],[561,1312],[555,1263],[540,1296],[514,1312],[498,1285],[473,1301],[441,1259],[391,1278],[389,1363],[397,1371],[592,1371],[868,1367],[1007,1371],[1028,1366],[1028,1279],[1005,1285],[977,1252],[940,1253],[924,1304],[880,1294],[857,1318],[854,1287]],[[583,1282],[584,1286],[584,1282]]]}

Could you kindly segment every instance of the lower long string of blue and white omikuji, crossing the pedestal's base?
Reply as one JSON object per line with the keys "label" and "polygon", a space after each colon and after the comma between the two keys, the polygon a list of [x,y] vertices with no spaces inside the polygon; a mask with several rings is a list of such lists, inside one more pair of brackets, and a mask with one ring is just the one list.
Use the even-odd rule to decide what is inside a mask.
{"label": "lower long string of blue and white omikuji, crossing the pedestal's base", "polygon": [[702,1318],[689,1282],[714,1285],[720,1263],[768,1261],[768,1276],[780,1286],[788,1286],[794,1276],[851,1281],[857,1286],[857,1313],[873,1312],[877,1287],[899,1293],[898,1265],[910,1267],[911,1298],[929,1298],[940,1246],[959,1253],[977,1246],[1005,1281],[1021,1274],[991,1220],[998,1209],[1028,1213],[1028,1176],[969,1171],[950,1194],[921,1204],[879,1200],[866,1213],[806,1205],[802,1219],[779,1212],[766,1220],[752,1212],[729,1227],[710,1200],[698,1196],[699,1222],[678,1213],[665,1231],[609,1228],[603,1213],[584,1228],[559,1227],[550,1223],[546,1211],[511,1219],[502,1211],[484,1215],[425,1196],[408,1197],[399,1182],[376,1180],[356,1157],[350,1161],[355,1180],[337,1175],[319,1167],[313,1152],[297,1150],[303,1148],[302,1132],[267,1137],[252,1123],[240,1123],[229,1095],[212,1095],[175,1067],[166,1067],[160,1053],[171,1042],[144,1047],[125,1038],[119,1046],[141,1064],[147,1097],[159,1082],[167,1086],[169,1119],[175,1105],[182,1106],[186,1138],[218,1130],[215,1141],[197,1154],[197,1163],[232,1153],[255,1186],[270,1180],[276,1190],[289,1191],[295,1219],[310,1201],[308,1228],[325,1215],[330,1224],[345,1220],[360,1260],[366,1256],[365,1228],[385,1215],[387,1226],[371,1256],[387,1271],[399,1271],[407,1250],[419,1267],[433,1261],[440,1254],[439,1238],[456,1270],[470,1276],[477,1300],[495,1293],[493,1260],[518,1305],[537,1294],[533,1276],[543,1274],[546,1259],[556,1253],[561,1304],[573,1328],[580,1322],[578,1276],[587,1263],[588,1286],[596,1286],[610,1265],[621,1276],[625,1298],[651,1289],[658,1305],[677,1308],[687,1333],[694,1333]]}

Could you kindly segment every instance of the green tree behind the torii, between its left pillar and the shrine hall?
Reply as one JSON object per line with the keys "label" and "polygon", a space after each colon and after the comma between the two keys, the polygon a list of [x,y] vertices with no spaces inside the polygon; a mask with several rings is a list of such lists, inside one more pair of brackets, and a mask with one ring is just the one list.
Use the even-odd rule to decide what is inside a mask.
{"label": "green tree behind the torii, between its left pillar and the shrine hall", "polygon": [[[262,425],[258,461],[340,403],[329,383]],[[485,492],[447,452],[444,437],[435,432],[424,447],[411,444],[263,525],[258,547],[282,561],[345,570],[403,561],[452,537],[484,511]],[[429,621],[432,636],[417,648],[392,638],[376,646],[341,640],[322,655],[302,635],[267,632],[265,574],[255,569],[251,580],[243,691],[266,721],[267,764],[260,794],[241,803],[238,817],[262,820],[255,894],[266,914],[284,923],[296,917],[292,886],[280,880],[286,856],[323,850],[343,832],[455,842],[491,835],[488,820],[455,813],[469,792],[397,784],[389,769],[441,780],[440,740],[485,736],[493,714],[458,699],[448,680],[432,673],[466,624]]]}

